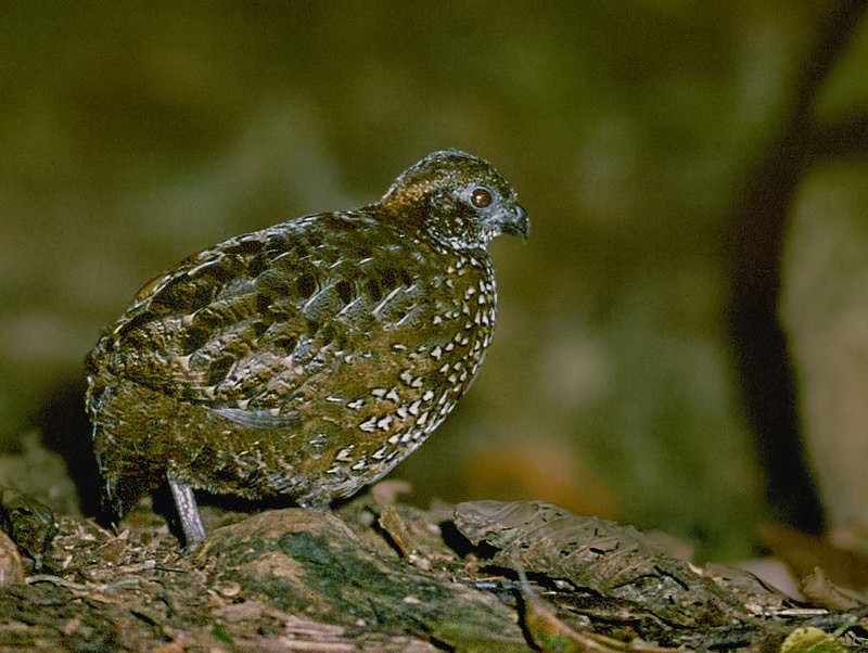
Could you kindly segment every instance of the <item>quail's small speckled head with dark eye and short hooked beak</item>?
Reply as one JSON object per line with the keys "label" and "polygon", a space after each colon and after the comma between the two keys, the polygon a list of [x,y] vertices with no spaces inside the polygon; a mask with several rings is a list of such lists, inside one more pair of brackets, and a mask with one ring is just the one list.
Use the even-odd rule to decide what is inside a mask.
{"label": "quail's small speckled head with dark eye and short hooked beak", "polygon": [[526,239],[531,231],[509,182],[488,162],[459,150],[429,154],[378,204],[451,247],[482,247],[501,233]]}

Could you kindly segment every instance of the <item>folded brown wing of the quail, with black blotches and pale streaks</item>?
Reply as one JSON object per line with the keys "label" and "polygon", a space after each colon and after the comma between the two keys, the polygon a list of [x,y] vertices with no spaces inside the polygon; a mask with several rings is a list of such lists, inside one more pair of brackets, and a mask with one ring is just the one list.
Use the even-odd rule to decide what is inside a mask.
{"label": "folded brown wing of the quail, with black blotches and pale streaks", "polygon": [[292,426],[314,390],[396,374],[387,344],[396,329],[413,337],[425,295],[405,247],[365,214],[227,241],[142,289],[91,364],[241,424]]}

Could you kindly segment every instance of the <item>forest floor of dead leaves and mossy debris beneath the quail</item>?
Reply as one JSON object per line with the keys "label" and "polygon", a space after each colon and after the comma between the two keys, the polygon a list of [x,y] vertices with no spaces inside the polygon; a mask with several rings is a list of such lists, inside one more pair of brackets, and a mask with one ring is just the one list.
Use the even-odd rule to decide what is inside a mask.
{"label": "forest floor of dead leaves and mossy debris beneath the quail", "polygon": [[821,575],[797,602],[629,526],[405,489],[334,513],[206,500],[194,550],[158,501],[113,532],[3,489],[0,651],[868,650],[868,607]]}

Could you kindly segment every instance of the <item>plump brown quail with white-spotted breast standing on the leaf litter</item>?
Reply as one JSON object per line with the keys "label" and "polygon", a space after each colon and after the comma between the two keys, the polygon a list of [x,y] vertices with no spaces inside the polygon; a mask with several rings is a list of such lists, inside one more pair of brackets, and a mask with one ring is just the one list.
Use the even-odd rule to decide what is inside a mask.
{"label": "plump brown quail with white-spotted breast standing on the leaf litter", "polygon": [[492,164],[443,150],[375,202],[231,238],[153,279],[85,362],[113,523],[168,485],[195,547],[194,490],[329,510],[384,476],[483,362],[489,242],[528,233]]}

